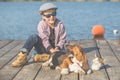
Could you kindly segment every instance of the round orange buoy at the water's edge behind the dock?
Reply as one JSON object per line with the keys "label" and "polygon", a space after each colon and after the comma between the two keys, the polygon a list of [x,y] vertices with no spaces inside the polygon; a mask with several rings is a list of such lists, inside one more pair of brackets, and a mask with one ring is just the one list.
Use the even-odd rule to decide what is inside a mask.
{"label": "round orange buoy at the water's edge behind the dock", "polygon": [[95,25],[92,28],[92,34],[93,35],[104,35],[105,29],[102,25]]}

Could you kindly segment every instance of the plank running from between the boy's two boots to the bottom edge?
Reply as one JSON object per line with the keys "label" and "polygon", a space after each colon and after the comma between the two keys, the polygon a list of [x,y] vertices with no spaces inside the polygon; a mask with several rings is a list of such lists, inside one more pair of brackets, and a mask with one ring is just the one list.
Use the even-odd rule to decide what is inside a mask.
{"label": "plank running from between the boy's two boots to the bottom edge", "polygon": [[40,68],[41,63],[34,63],[31,58],[28,64],[19,71],[13,80],[34,80]]}

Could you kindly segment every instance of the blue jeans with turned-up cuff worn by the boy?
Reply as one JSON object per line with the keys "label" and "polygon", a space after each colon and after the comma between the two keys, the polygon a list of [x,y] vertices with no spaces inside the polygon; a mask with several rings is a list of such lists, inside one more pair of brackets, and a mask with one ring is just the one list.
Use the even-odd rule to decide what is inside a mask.
{"label": "blue jeans with turned-up cuff worn by the boy", "polygon": [[29,54],[32,48],[35,48],[37,53],[48,53],[48,51],[44,48],[42,44],[41,38],[37,35],[31,35],[25,42],[23,48],[20,51],[26,52]]}

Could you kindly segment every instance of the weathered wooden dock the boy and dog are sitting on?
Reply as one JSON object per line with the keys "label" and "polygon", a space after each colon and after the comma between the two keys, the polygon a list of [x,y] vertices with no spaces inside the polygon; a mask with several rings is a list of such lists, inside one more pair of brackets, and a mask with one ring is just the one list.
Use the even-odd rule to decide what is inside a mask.
{"label": "weathered wooden dock the boy and dog are sitting on", "polygon": [[[32,51],[27,65],[11,67],[24,43],[24,40],[0,40],[0,80],[81,80],[80,74],[60,75],[60,71],[33,63]],[[89,59],[93,59],[95,53],[105,59],[101,70],[83,75],[83,80],[120,80],[120,45],[117,40],[70,40],[68,43],[81,45]]]}

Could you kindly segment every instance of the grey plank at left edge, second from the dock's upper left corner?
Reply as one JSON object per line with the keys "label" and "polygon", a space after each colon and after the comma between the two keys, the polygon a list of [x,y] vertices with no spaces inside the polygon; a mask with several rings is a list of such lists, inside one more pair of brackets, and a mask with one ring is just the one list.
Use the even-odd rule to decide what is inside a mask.
{"label": "grey plank at left edge, second from the dock's upper left corner", "polygon": [[[9,42],[9,43],[8,43]],[[3,55],[7,54],[11,49],[13,49],[14,47],[16,47],[21,41],[16,40],[16,41],[2,41],[2,43],[4,43],[6,46],[4,46],[3,48],[0,49],[0,57],[2,57]]]}

